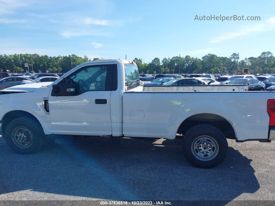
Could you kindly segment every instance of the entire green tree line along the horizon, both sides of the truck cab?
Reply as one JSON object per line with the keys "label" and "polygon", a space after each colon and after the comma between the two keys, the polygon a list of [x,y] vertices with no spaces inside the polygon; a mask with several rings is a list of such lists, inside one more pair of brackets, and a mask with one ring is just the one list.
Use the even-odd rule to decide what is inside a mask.
{"label": "entire green tree line along the horizon, both sides of the truck cab", "polygon": [[[103,58],[101,58],[103,59]],[[94,58],[93,60],[100,60]],[[68,56],[38,55],[38,54],[10,54],[0,55],[0,71],[24,72],[29,64],[31,73],[57,72],[65,73],[78,64],[90,61],[86,55],[79,57],[75,54]],[[155,57],[151,62],[145,63],[142,59],[133,60],[139,68],[139,73],[159,74],[159,73],[235,73],[243,68],[249,68],[252,73],[275,73],[275,57],[273,54],[263,52],[258,57],[248,57],[240,61],[238,54],[233,53],[230,57],[218,57],[215,54],[207,54],[199,59],[186,55],[185,57],[175,56],[164,58],[162,61]]]}

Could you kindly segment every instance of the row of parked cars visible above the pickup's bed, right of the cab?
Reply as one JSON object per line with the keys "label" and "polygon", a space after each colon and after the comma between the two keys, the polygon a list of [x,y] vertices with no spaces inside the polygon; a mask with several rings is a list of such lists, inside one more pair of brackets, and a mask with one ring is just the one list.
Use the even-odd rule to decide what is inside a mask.
{"label": "row of parked cars visible above the pickup's bed, right of the cab", "polygon": [[264,91],[275,90],[275,76],[272,75],[140,75],[145,86],[177,86],[177,85],[247,85],[248,90]]}

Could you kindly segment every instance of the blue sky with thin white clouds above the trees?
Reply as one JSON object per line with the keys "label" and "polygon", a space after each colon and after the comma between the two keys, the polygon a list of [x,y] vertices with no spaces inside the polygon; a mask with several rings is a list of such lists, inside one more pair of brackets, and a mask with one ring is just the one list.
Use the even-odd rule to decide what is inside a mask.
{"label": "blue sky with thin white clouds above the trees", "polygon": [[[275,54],[275,1],[0,0],[0,54],[37,53],[145,62],[213,53]],[[196,15],[260,21],[194,21]]]}

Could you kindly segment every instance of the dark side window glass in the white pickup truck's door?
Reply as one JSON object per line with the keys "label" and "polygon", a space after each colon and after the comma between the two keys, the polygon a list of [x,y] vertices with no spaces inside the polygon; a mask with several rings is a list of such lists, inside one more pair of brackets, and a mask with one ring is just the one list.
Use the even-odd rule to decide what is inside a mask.
{"label": "dark side window glass in the white pickup truck's door", "polygon": [[112,89],[113,65],[95,65],[83,67],[69,75],[76,85],[76,95],[87,91]]}

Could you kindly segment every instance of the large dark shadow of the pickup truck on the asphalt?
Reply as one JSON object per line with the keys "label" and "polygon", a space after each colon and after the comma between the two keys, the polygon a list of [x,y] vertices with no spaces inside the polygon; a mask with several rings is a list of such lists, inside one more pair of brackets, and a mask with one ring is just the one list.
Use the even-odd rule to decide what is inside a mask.
{"label": "large dark shadow of the pickup truck on the asphalt", "polygon": [[0,194],[30,189],[109,200],[230,201],[260,188],[251,160],[232,147],[212,169],[193,167],[181,145],[167,140],[123,138],[117,147],[60,145],[34,155],[15,154],[0,141],[0,149]]}

